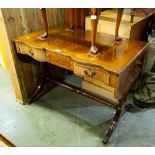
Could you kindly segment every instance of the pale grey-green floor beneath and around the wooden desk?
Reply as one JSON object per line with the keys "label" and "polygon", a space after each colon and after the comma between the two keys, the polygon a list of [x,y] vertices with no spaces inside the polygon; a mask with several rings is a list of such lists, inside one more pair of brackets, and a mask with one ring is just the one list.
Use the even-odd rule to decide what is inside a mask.
{"label": "pale grey-green floor beneath and around the wooden desk", "polygon": [[[9,74],[0,67],[0,133],[16,146],[104,146],[102,133],[113,112],[61,86],[32,105],[20,105]],[[155,108],[134,106],[106,146],[155,146],[154,129]]]}

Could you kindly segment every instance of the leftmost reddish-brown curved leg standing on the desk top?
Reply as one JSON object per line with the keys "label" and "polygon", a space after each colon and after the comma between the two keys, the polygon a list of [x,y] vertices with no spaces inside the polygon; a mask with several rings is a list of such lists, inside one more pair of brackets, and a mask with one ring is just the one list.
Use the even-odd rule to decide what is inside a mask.
{"label": "leftmost reddish-brown curved leg standing on the desk top", "polygon": [[40,9],[41,12],[41,18],[42,18],[42,22],[44,25],[44,34],[42,34],[39,39],[40,40],[46,40],[48,38],[48,21],[47,21],[47,14],[46,14],[46,9],[45,8],[41,8]]}

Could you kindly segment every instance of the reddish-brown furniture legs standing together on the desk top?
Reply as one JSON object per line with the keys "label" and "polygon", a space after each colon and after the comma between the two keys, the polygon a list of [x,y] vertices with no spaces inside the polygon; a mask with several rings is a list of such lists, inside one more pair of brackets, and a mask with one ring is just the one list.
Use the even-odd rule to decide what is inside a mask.
{"label": "reddish-brown furniture legs standing together on the desk top", "polygon": [[[92,40],[91,40],[90,54],[92,56],[97,56],[99,54],[98,53],[98,48],[96,47],[96,32],[97,32],[98,17],[100,15],[101,11],[105,11],[107,9],[91,8],[89,10],[90,10],[90,14],[91,14],[91,23],[92,23],[92,27],[91,27],[91,31],[92,31],[91,38],[92,38]],[[75,28],[74,18],[78,19],[78,16],[80,17],[81,14],[79,14],[79,13],[81,12],[81,10],[71,8],[71,9],[66,10],[66,11],[67,12],[69,11],[69,13],[65,13],[65,19],[67,18],[67,15],[68,15],[68,17],[70,19],[70,24],[69,24],[68,30],[73,31],[74,28]],[[77,17],[75,16],[75,14],[76,14]],[[115,37],[114,37],[114,40],[116,42],[119,42],[119,41],[122,40],[119,37],[119,34],[118,34],[122,14],[123,14],[123,9],[118,9],[117,19],[116,19],[116,27],[115,27]],[[42,34],[40,36],[40,40],[46,40],[46,39],[48,39],[48,22],[47,22],[47,15],[46,15],[46,9],[45,8],[41,9],[41,16],[42,16],[42,21],[43,21],[43,24],[44,24],[45,32],[44,32],[44,34]],[[85,16],[85,13],[84,13],[84,16]],[[79,22],[81,22],[81,21],[79,21]],[[84,22],[84,21],[82,21],[82,22]]]}

